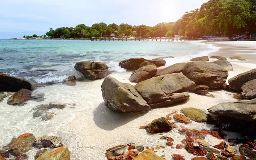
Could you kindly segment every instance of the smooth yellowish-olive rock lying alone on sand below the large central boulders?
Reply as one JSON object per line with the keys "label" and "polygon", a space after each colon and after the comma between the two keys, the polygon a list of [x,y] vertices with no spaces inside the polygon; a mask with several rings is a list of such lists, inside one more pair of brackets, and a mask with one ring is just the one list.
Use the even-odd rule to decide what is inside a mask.
{"label": "smooth yellowish-olive rock lying alone on sand below the large central boulders", "polygon": [[207,121],[207,115],[204,113],[204,111],[202,111],[200,109],[184,108],[184,109],[181,109],[180,112],[196,122],[206,122]]}

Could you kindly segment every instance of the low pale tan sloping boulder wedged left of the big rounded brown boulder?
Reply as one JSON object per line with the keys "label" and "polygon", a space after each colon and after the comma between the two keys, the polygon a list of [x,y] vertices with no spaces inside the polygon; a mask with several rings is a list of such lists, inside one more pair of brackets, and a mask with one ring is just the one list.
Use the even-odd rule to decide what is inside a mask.
{"label": "low pale tan sloping boulder wedged left of the big rounded brown boulder", "polygon": [[157,74],[155,75],[155,77],[162,76],[165,74],[180,73],[183,71],[185,65],[186,65],[186,63],[176,63],[172,66],[169,66],[169,67],[166,67],[164,69],[157,71]]}

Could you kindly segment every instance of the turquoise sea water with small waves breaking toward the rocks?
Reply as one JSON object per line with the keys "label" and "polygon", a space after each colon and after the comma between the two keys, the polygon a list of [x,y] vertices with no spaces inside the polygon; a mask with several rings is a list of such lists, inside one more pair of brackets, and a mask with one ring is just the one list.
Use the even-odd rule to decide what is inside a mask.
{"label": "turquoise sea water with small waves breaking toward the rocks", "polygon": [[103,62],[111,71],[122,72],[119,61],[131,57],[173,56],[166,59],[171,65],[210,51],[215,48],[190,42],[0,40],[0,71],[36,83],[61,82],[77,74],[73,66],[79,61]]}

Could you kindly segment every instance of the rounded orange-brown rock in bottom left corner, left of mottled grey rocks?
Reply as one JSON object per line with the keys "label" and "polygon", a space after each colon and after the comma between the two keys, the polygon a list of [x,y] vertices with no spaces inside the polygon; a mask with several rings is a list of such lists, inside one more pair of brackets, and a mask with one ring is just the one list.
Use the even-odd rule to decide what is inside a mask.
{"label": "rounded orange-brown rock in bottom left corner, left of mottled grey rocks", "polygon": [[22,134],[17,137],[10,145],[10,149],[16,157],[29,151],[32,148],[32,144],[35,143],[35,136],[31,133]]}

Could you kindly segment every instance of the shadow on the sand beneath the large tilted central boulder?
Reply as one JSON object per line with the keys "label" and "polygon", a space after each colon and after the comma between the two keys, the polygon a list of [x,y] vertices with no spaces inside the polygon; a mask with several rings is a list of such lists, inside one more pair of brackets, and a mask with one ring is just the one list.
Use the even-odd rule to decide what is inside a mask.
{"label": "shadow on the sand beneath the large tilted central boulder", "polygon": [[132,120],[145,115],[147,112],[140,113],[122,113],[114,112],[108,109],[102,102],[93,111],[93,120],[101,129],[111,131],[117,127],[123,126]]}

